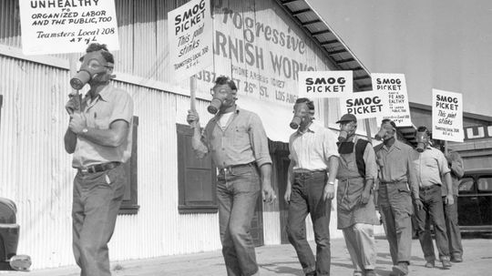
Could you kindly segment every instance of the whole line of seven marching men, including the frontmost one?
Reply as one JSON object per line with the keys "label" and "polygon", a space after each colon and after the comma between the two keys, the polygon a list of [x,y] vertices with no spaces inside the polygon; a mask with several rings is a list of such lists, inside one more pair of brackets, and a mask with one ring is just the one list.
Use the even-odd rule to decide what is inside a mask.
{"label": "whole line of seven marching men, including the frontmost one", "polygon": [[[106,46],[88,46],[81,61],[70,83],[75,89],[86,84],[90,89],[86,97],[68,101],[70,120],[64,138],[77,169],[73,249],[82,276],[108,276],[108,241],[124,195],[126,172],[121,164],[131,152],[133,101],[127,92],[110,85],[114,57]],[[261,118],[236,105],[237,92],[231,78],[218,77],[208,108],[214,117],[203,130],[195,110],[190,110],[187,120],[194,128],[191,147],[197,157],[210,154],[219,169],[220,241],[227,274],[250,276],[259,275],[250,234],[255,203],[260,194],[267,202],[276,196],[271,184],[272,158]],[[439,150],[430,147],[425,128],[417,130],[417,151],[398,141],[395,123],[384,120],[377,135],[383,143],[373,148],[355,135],[354,115],[340,118],[337,137],[314,120],[312,100],[299,98],[293,109],[291,128],[295,131],[289,139],[291,163],[284,199],[289,204],[288,237],[306,275],[330,274],[329,223],[336,179],[338,229],[343,230],[354,275],[375,275],[373,225],[379,223],[375,190],[379,190],[395,275],[408,273],[413,214],[426,267],[434,267],[436,260],[427,221],[434,225],[443,267],[449,268],[449,261],[462,261],[457,184],[452,184],[463,174],[458,156],[446,160]],[[377,179],[379,189],[374,189]],[[316,257],[306,240],[308,214],[313,220]]]}

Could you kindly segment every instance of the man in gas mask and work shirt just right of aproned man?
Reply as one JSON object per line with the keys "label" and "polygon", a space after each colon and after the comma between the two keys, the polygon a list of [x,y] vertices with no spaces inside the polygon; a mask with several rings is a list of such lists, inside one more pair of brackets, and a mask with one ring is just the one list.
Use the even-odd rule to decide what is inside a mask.
{"label": "man in gas mask and work shirt just right of aproned man", "polygon": [[412,250],[412,220],[415,208],[421,209],[418,186],[412,163],[413,148],[396,139],[396,125],[384,119],[374,147],[379,167],[379,210],[390,247],[393,271],[390,275],[407,275]]}

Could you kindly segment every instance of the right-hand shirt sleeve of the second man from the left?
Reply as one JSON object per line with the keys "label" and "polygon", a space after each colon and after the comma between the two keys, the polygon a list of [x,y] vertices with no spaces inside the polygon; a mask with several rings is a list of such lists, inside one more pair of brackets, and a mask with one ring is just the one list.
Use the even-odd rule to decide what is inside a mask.
{"label": "right-hand shirt sleeve of the second man from the left", "polygon": [[256,114],[251,115],[249,134],[251,148],[258,167],[264,164],[272,164],[272,158],[268,149],[268,138],[261,119]]}

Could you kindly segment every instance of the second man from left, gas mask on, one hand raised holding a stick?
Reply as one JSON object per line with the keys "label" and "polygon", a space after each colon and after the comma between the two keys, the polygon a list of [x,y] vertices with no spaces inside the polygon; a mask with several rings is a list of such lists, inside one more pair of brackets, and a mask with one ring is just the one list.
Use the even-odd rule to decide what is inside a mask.
{"label": "second man from left, gas mask on, one hand raised holding a stick", "polygon": [[227,275],[250,276],[260,274],[250,233],[256,201],[260,191],[267,202],[272,202],[275,194],[272,159],[261,119],[236,105],[237,92],[229,77],[217,77],[207,108],[215,116],[203,133],[195,110],[189,111],[187,121],[194,128],[191,147],[197,157],[210,153],[219,169],[220,241]]}

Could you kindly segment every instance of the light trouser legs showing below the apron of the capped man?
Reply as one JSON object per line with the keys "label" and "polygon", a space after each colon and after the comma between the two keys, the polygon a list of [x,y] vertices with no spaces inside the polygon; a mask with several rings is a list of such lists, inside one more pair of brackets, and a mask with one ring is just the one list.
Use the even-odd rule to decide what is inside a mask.
{"label": "light trouser legs showing below the apron of the capped man", "polygon": [[343,237],[354,264],[354,272],[374,270],[376,250],[372,224],[355,223],[343,229]]}

